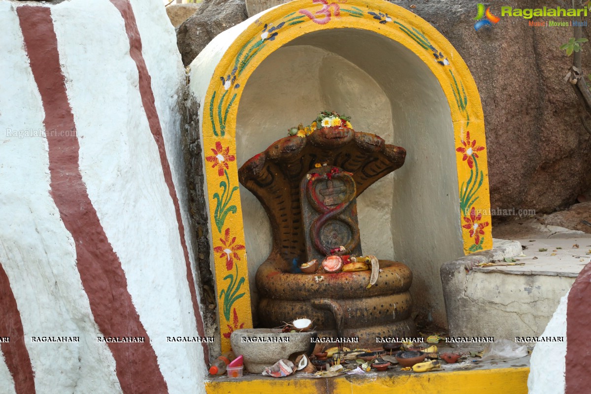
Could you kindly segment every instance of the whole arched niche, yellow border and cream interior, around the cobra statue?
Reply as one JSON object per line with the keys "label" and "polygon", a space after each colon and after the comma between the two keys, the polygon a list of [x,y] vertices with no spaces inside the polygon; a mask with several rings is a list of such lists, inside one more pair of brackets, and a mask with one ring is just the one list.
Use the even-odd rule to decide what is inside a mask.
{"label": "whole arched niche, yellow border and cream interior, around the cobra statue", "polygon": [[[439,32],[417,15],[385,1],[293,1],[216,37],[191,63],[190,89],[200,103],[224,349],[233,330],[252,327],[253,312],[255,323],[267,318],[255,311],[259,298],[269,298],[268,291],[257,291],[254,282],[269,254],[285,253],[281,261],[289,266],[281,269],[290,272],[304,263],[307,253],[317,250],[306,245],[310,235],[304,232],[298,233],[297,245],[290,245],[291,254],[277,249],[272,220],[265,213],[269,207],[239,185],[238,168],[284,138],[288,129],[325,109],[351,116],[356,134],[379,135],[384,146],[403,146],[407,157],[404,166],[378,177],[371,186],[360,182],[358,171],[349,171],[353,167],[348,167],[350,162],[343,164],[342,158],[327,158],[326,166],[315,162],[322,171],[337,168],[353,174],[356,188],[355,201],[346,208],[350,221],[329,223],[319,239],[325,243],[333,239],[331,246],[356,240],[351,230],[356,220],[359,243],[347,253],[404,262],[407,268],[400,269],[413,271],[412,285],[397,285],[396,297],[407,297],[401,294],[410,291],[416,311],[446,324],[441,263],[490,249],[492,237],[478,91],[466,64]],[[314,137],[306,137],[310,138]],[[290,144],[289,149],[297,150],[296,142]],[[271,161],[268,155],[267,151],[265,162]],[[310,168],[310,163],[298,167],[297,179],[294,174],[290,180],[297,184],[290,190],[298,196],[287,201],[296,206],[297,200],[298,209],[301,200],[309,201],[299,196],[304,193],[300,182],[310,171],[320,176],[329,173],[321,170]],[[332,184],[324,180],[316,194],[336,202],[343,198],[343,188],[351,190],[345,178],[339,175]],[[322,189],[327,190],[325,194]],[[323,214],[324,207],[313,205],[303,208],[310,215],[307,230]],[[296,225],[301,231],[303,222],[290,222]],[[317,257],[325,252],[317,252]],[[296,256],[299,260],[294,262]],[[410,279],[410,270],[405,275]],[[381,280],[369,290],[381,289]],[[327,279],[314,285],[328,286]],[[314,308],[313,313],[327,319],[329,310]],[[392,316],[392,311],[388,314]]]}

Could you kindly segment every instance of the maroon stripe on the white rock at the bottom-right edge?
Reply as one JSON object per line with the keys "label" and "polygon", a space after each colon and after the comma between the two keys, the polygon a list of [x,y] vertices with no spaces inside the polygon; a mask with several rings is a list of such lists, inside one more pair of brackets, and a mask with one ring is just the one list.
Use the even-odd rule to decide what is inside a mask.
{"label": "maroon stripe on the white rock at the bottom-right edge", "polygon": [[566,307],[566,394],[591,388],[591,263],[584,266],[570,288]]}

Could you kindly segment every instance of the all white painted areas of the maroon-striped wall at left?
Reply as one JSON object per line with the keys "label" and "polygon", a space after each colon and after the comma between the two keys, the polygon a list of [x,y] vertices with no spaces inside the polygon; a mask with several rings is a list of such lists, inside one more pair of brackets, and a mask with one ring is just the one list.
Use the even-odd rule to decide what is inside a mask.
{"label": "all white painted areas of the maroon-striped wall at left", "polygon": [[[112,353],[96,341],[102,333],[80,281],[72,236],[50,195],[47,139],[5,134],[44,131],[16,4],[0,1],[0,261],[20,311],[37,392],[119,393]],[[176,35],[161,2],[131,5],[191,251],[177,107],[184,68]],[[124,20],[108,0],[49,6],[90,200],[121,261],[169,392],[204,392],[201,344],[166,341],[199,334],[173,200],[142,106]],[[33,344],[31,336],[80,336],[80,342]],[[7,373],[0,358],[0,392]],[[7,392],[14,392],[14,383],[6,382]]]}

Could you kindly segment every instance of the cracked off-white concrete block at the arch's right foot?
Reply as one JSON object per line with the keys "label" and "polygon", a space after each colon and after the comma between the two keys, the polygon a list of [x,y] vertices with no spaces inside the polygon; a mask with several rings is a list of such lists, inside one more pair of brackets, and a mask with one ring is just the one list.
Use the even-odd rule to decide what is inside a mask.
{"label": "cracked off-white concrete block at the arch's right foot", "polygon": [[[537,244],[525,250],[530,260],[534,246],[537,251]],[[581,246],[583,248],[583,244]],[[514,340],[543,333],[560,298],[574,282],[570,271],[561,269],[551,260],[546,261],[550,256],[527,261],[524,266],[477,266],[521,253],[519,242],[495,240],[492,250],[441,266],[450,336]]]}

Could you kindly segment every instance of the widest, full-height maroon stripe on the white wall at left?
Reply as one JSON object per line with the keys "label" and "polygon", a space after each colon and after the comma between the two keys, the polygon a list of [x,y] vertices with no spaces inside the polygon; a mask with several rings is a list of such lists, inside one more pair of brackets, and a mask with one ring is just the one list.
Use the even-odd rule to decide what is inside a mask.
{"label": "widest, full-height maroon stripe on the white wall at left", "polygon": [[[47,131],[75,131],[72,108],[60,69],[51,11],[19,6],[25,47],[37,83]],[[76,244],[77,268],[99,330],[109,337],[145,337],[145,343],[108,343],[126,394],[167,393],[150,338],[139,320],[121,262],[113,251],[88,196],[79,169],[77,137],[47,133],[51,196]],[[70,133],[69,135],[72,135]]]}

